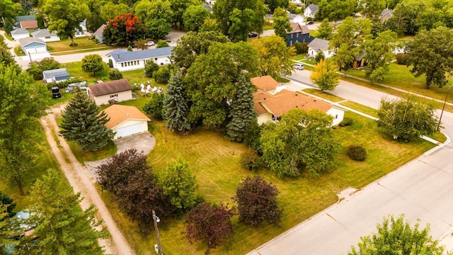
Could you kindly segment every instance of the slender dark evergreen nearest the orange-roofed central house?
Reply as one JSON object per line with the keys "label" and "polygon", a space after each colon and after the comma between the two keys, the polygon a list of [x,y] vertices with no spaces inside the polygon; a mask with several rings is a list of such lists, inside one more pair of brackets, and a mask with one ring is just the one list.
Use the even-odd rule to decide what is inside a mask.
{"label": "slender dark evergreen nearest the orange-roofed central house", "polygon": [[231,120],[226,125],[226,135],[231,140],[241,141],[251,120],[256,118],[256,113],[253,111],[253,92],[250,81],[247,81],[246,77],[241,75],[236,83],[236,93],[229,103],[229,118]]}

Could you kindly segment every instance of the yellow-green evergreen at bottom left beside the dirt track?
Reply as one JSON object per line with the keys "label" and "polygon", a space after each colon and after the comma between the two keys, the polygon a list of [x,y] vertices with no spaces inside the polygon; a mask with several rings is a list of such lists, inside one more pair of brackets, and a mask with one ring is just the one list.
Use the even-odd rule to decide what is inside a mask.
{"label": "yellow-green evergreen at bottom left beside the dirt track", "polygon": [[30,207],[30,222],[37,226],[38,237],[28,254],[103,254],[98,238],[107,237],[102,222],[95,220],[96,210],[91,205],[81,210],[80,193],[74,194],[55,170],[47,171],[36,181],[31,193],[35,203]]}

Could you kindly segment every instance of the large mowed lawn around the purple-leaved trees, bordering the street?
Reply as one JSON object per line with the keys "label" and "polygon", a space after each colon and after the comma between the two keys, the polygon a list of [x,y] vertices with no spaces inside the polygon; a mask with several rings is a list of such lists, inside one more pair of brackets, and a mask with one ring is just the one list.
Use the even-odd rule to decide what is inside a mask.
{"label": "large mowed lawn around the purple-leaved trees, bordering the street", "polygon": [[[140,98],[124,104],[141,108],[147,100],[149,99]],[[336,193],[343,189],[349,186],[362,188],[434,147],[423,140],[410,144],[388,140],[379,135],[374,120],[351,112],[347,112],[346,117],[352,118],[354,123],[349,127],[337,128],[333,133],[341,141],[343,148],[351,144],[363,145],[368,152],[367,160],[354,162],[348,158],[343,149],[338,157],[338,169],[330,174],[324,174],[319,179],[311,179],[306,174],[296,179],[280,179],[268,169],[260,169],[253,173],[243,169],[239,164],[246,147],[229,142],[222,136],[222,132],[199,128],[188,135],[179,135],[166,130],[163,121],[154,119],[150,124],[150,132],[156,137],[156,147],[148,155],[148,161],[153,166],[154,173],[159,174],[164,171],[168,161],[183,157],[197,177],[199,186],[197,193],[212,203],[224,202],[233,205],[231,197],[234,196],[238,183],[246,176],[259,174],[275,183],[280,191],[278,196],[280,207],[284,210],[281,227],[268,224],[257,228],[248,227],[239,223],[235,216],[233,237],[224,245],[212,250],[212,254],[246,254],[336,203],[338,200]],[[156,244],[154,229],[148,237],[142,237],[137,225],[116,209],[110,194],[106,191],[102,191],[101,194],[137,254],[154,254],[154,250],[150,248]],[[190,245],[183,238],[183,218],[176,220],[161,218],[161,220],[159,233],[165,254],[205,252],[205,245],[200,243]]]}

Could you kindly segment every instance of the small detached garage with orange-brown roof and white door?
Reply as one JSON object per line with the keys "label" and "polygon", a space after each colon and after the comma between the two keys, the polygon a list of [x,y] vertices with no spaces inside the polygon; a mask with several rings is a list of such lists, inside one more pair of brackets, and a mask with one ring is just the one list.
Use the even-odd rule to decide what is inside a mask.
{"label": "small detached garage with orange-brown roof and white door", "polygon": [[114,140],[148,132],[148,122],[151,120],[134,106],[113,105],[106,108],[104,112],[110,118],[105,126],[116,132]]}

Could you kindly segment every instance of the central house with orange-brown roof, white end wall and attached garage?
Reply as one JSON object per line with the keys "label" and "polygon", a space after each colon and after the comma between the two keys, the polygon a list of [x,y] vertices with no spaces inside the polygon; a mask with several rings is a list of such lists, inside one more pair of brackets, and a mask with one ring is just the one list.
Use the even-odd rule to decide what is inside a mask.
{"label": "central house with orange-brown roof, white end wall and attached garage", "polygon": [[[255,77],[251,82],[258,87],[253,95],[255,111],[258,114],[258,124],[280,120],[280,117],[292,109],[310,111],[318,109],[333,116],[332,125],[338,125],[343,120],[345,110],[304,94],[286,89],[270,76]],[[273,88],[273,89],[271,89]]]}

